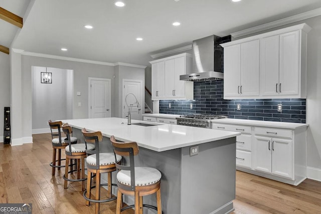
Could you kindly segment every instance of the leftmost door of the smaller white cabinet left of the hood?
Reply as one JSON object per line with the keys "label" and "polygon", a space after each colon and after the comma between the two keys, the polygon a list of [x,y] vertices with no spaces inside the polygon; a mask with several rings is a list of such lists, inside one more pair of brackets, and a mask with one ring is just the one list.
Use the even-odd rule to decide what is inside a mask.
{"label": "leftmost door of the smaller white cabinet left of the hood", "polygon": [[164,61],[151,65],[151,99],[164,98]]}

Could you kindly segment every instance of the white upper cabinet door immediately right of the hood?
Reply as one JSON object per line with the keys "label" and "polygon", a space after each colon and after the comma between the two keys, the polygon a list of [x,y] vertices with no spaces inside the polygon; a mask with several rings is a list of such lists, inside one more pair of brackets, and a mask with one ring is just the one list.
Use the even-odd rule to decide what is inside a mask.
{"label": "white upper cabinet door immediately right of the hood", "polygon": [[241,45],[224,48],[224,97],[240,95]]}

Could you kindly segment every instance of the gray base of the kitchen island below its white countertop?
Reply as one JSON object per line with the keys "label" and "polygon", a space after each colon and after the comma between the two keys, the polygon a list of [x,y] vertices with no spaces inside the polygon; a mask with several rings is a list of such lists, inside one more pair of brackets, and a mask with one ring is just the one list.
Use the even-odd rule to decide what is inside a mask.
{"label": "gray base of the kitchen island below its white countertop", "polygon": [[[80,130],[82,127],[74,121],[77,120],[63,120],[63,122],[68,122],[71,126],[74,124],[73,136],[76,136],[83,143]],[[88,126],[86,124],[83,125],[87,129]],[[175,128],[179,125],[162,124],[163,129],[166,126]],[[132,127],[131,125],[130,128]],[[155,126],[150,127],[154,128]],[[181,127],[184,126],[179,126],[179,128]],[[190,132],[191,128],[194,127],[190,127],[187,131]],[[88,129],[91,129],[91,127],[88,127]],[[197,135],[200,129],[202,128],[194,128],[192,130]],[[180,131],[182,133],[182,130]],[[113,134],[106,130],[102,132],[104,139],[100,144],[100,150],[112,152],[109,137]],[[215,134],[215,132],[209,133]],[[126,140],[136,141],[139,145],[139,155],[136,156],[135,164],[154,167],[162,172],[161,194],[162,208],[165,214],[229,213],[234,210],[236,135],[238,133],[226,133],[228,133],[228,137],[225,139],[194,144],[199,146],[199,153],[193,156],[190,156],[191,146],[154,151],[144,148],[143,144],[146,142],[143,142],[140,146],[135,139]],[[115,134],[115,136],[117,135]],[[120,138],[122,137],[120,136]],[[113,180],[115,180],[115,175],[116,173],[113,173]],[[102,179],[107,180],[105,175],[102,176]],[[116,193],[115,190],[113,189],[114,194]],[[125,196],[124,202],[133,204],[133,197]],[[156,196],[144,196],[144,204],[156,206]],[[144,213],[154,213],[154,210],[146,209]]]}

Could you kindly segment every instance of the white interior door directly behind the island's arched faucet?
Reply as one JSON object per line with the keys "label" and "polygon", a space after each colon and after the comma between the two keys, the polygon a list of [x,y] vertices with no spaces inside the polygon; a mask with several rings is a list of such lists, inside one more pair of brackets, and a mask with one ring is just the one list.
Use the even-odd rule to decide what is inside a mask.
{"label": "white interior door directly behind the island's arched faucet", "polygon": [[125,118],[128,114],[128,107],[125,102],[126,95],[132,93],[137,98],[137,101],[140,106],[137,106],[136,99],[132,94],[127,96],[127,104],[130,106],[132,104],[130,115],[131,119],[141,120],[142,119],[142,111],[144,108],[144,103],[142,100],[142,81],[141,80],[126,80],[122,81],[122,117]]}

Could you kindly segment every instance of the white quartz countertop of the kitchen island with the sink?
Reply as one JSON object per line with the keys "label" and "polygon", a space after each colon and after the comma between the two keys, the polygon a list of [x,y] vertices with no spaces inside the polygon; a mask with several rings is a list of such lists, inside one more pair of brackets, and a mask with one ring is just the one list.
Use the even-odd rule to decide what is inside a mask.
{"label": "white quartz countertop of the kitchen island with the sink", "polygon": [[[138,146],[158,152],[226,139],[241,134],[232,131],[153,123],[140,120],[131,120],[131,125],[127,125],[127,119],[116,117],[62,121],[79,129],[86,128],[89,131],[99,130],[105,137],[114,135],[117,140],[123,142],[135,141]],[[133,123],[139,122],[157,125],[133,125]]]}

